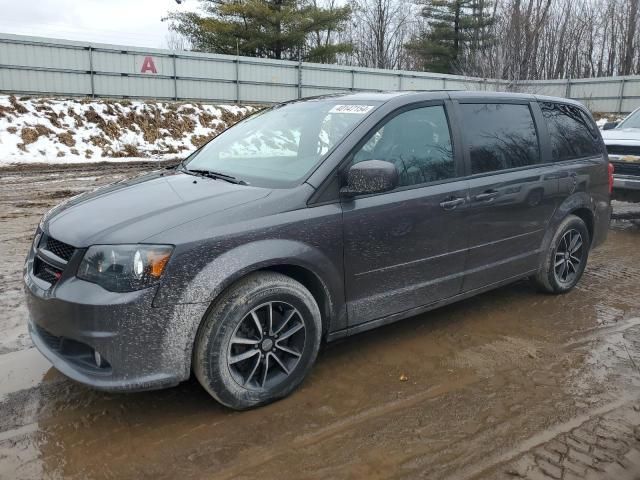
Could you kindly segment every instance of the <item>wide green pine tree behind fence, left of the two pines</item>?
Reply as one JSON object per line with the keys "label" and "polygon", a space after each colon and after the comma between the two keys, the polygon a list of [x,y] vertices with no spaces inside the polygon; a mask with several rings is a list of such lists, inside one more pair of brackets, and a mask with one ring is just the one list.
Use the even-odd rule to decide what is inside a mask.
{"label": "wide green pine tree behind fence, left of the two pines", "polygon": [[340,31],[347,7],[321,8],[309,0],[200,0],[198,12],[171,12],[165,20],[201,52],[251,57],[334,61],[350,50],[343,43],[313,46],[319,32]]}

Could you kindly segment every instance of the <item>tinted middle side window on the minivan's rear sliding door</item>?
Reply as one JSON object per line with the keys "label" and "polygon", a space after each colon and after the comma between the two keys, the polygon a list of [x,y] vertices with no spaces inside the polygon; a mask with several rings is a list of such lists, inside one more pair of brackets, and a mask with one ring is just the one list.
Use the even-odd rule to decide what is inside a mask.
{"label": "tinted middle side window on the minivan's rear sliding door", "polygon": [[460,105],[471,173],[495,172],[539,162],[540,147],[528,105]]}

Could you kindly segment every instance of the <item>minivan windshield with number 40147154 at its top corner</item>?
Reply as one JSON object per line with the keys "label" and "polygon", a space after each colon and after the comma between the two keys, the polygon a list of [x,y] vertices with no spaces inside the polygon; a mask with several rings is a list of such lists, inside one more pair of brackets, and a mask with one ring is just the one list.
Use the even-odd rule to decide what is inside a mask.
{"label": "minivan windshield with number 40147154 at its top corner", "polygon": [[186,164],[250,185],[296,185],[381,102],[339,99],[279,105],[236,124]]}

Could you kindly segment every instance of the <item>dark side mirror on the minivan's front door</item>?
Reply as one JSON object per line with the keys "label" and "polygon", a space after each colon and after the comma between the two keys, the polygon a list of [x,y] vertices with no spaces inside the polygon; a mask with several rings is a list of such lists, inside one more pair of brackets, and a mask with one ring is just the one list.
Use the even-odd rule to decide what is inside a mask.
{"label": "dark side mirror on the minivan's front door", "polygon": [[356,163],[347,174],[347,186],[340,190],[346,196],[380,193],[398,185],[398,170],[391,162],[367,160]]}

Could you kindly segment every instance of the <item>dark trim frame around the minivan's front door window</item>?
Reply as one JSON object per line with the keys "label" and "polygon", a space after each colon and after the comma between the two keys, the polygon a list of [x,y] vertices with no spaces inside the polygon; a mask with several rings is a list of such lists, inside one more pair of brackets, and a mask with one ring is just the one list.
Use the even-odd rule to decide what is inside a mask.
{"label": "dark trim frame around the minivan's front door window", "polygon": [[378,195],[388,195],[390,193],[402,192],[402,191],[405,191],[405,190],[413,190],[413,189],[416,189],[416,188],[424,188],[424,187],[429,187],[429,186],[432,186],[432,185],[441,185],[443,183],[451,183],[451,182],[457,182],[457,181],[461,180],[464,177],[464,170],[463,170],[464,166],[462,165],[462,162],[461,162],[461,158],[460,158],[461,152],[460,152],[460,148],[458,147],[458,145],[459,145],[459,137],[458,137],[458,132],[457,132],[457,128],[456,128],[457,126],[455,125],[455,120],[454,120],[453,116],[451,115],[450,106],[451,106],[451,101],[450,100],[445,100],[445,99],[426,100],[426,101],[422,101],[422,102],[416,102],[416,103],[410,103],[410,104],[407,104],[407,105],[403,105],[403,106],[398,107],[395,110],[389,112],[387,115],[382,117],[378,122],[376,122],[376,124],[373,125],[367,131],[367,133],[362,136],[362,138],[353,146],[353,148],[351,148],[351,150],[349,150],[349,153],[347,153],[342,158],[342,160],[340,160],[340,163],[338,164],[338,166],[327,177],[327,179],[329,179],[329,177],[337,176],[339,181],[340,181],[340,183],[341,183],[341,180],[342,180],[342,178],[344,178],[344,175],[347,172],[348,165],[351,163],[351,160],[353,159],[353,156],[355,155],[355,153],[358,152],[371,139],[371,137],[373,137],[373,135],[376,134],[376,132],[381,127],[386,125],[388,122],[393,120],[398,115],[401,115],[401,114],[403,114],[405,112],[408,112],[408,111],[411,111],[411,110],[417,110],[419,108],[442,107],[442,110],[443,110],[443,112],[445,114],[445,118],[446,118],[446,121],[447,121],[447,127],[449,129],[449,139],[451,140],[451,150],[452,150],[452,157],[453,157],[455,176],[451,177],[451,178],[445,178],[445,179],[442,179],[442,180],[435,180],[435,181],[432,181],[432,182],[423,182],[423,183],[415,183],[415,184],[412,184],[412,185],[399,186],[399,187],[396,187],[393,190],[389,190],[387,192],[367,193],[367,194],[355,195],[352,198],[353,199],[359,199],[359,198],[374,197],[374,196],[378,196]]}

